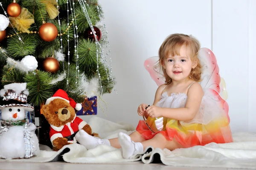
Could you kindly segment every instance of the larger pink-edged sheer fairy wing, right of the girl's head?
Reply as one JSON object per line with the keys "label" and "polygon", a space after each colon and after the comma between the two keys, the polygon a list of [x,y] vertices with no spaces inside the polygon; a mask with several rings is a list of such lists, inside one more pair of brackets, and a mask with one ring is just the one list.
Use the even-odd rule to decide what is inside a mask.
{"label": "larger pink-edged sheer fairy wing, right of the girl's head", "polygon": [[220,95],[224,87],[220,84],[221,77],[219,75],[216,57],[210,49],[202,48],[199,50],[198,58],[203,67],[201,75],[202,81],[200,84],[204,89],[204,92],[209,91],[211,93],[212,99],[218,102],[219,106],[225,111],[227,119],[230,122],[228,104]]}

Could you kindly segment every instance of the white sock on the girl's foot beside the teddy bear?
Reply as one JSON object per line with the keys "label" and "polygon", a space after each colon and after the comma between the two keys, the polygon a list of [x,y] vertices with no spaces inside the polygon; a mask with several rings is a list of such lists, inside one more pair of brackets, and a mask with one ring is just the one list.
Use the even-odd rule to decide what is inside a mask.
{"label": "white sock on the girl's foot beside the teddy bear", "polygon": [[75,138],[79,142],[79,144],[86,147],[87,150],[93,149],[99,144],[106,144],[108,146],[111,146],[108,139],[101,139],[101,138],[91,136],[88,133],[86,133],[84,130],[79,130],[78,133],[76,133]]}

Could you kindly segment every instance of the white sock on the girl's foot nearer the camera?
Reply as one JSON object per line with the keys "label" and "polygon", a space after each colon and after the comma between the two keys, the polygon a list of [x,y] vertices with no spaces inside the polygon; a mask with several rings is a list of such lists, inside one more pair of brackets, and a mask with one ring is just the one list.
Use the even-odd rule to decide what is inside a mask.
{"label": "white sock on the girl's foot nearer the camera", "polygon": [[118,134],[118,141],[122,147],[122,156],[125,159],[128,159],[137,153],[143,152],[142,143],[132,141],[131,137],[125,133],[120,132]]}

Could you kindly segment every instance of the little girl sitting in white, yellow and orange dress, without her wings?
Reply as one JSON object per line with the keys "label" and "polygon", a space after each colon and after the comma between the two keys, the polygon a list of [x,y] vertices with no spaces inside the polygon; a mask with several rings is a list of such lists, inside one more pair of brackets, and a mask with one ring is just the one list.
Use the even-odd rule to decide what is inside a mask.
{"label": "little girl sitting in white, yellow and orange dress, without her wings", "polygon": [[119,133],[118,138],[108,140],[80,130],[77,141],[87,149],[99,144],[122,147],[124,158],[131,158],[148,146],[175,150],[210,142],[232,142],[226,113],[198,83],[202,72],[199,49],[200,43],[195,37],[183,34],[169,35],[159,49],[165,84],[158,87],[153,105],[141,104],[137,112],[147,118],[152,128],[156,118],[163,117],[161,131],[152,133],[145,121],[140,120],[130,135]]}

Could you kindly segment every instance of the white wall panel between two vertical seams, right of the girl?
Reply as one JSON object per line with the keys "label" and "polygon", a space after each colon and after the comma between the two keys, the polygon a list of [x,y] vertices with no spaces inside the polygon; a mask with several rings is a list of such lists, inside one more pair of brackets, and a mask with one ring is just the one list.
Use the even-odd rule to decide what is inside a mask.
{"label": "white wall panel between two vertical seams, right of the girl", "polygon": [[248,130],[248,2],[213,0],[212,3],[212,47],[220,75],[227,84],[233,131]]}

